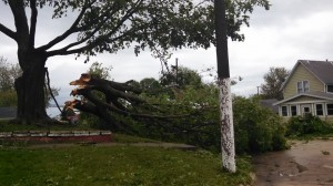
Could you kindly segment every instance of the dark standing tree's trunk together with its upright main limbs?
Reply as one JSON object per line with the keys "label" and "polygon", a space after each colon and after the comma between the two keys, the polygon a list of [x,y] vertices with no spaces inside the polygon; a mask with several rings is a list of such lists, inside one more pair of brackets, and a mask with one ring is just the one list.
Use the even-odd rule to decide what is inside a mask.
{"label": "dark standing tree's trunk together with its upright main limbs", "polygon": [[[31,19],[28,23],[23,0],[9,0],[10,9],[14,18],[16,32],[4,29],[4,33],[11,37],[18,44],[18,60],[23,71],[16,80],[18,95],[17,118],[22,123],[36,123],[49,120],[46,112],[44,80],[46,80],[46,50],[36,50],[34,37],[37,24],[37,0],[30,0]],[[1,29],[1,27],[0,27]]]}

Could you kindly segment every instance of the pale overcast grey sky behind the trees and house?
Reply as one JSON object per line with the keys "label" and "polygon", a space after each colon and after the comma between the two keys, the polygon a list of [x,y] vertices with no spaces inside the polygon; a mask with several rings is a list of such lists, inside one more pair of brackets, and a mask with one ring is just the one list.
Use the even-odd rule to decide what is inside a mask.
{"label": "pale overcast grey sky behind the trees and house", "polygon": [[[263,8],[254,10],[250,19],[250,28],[243,28],[244,42],[229,41],[231,76],[243,80],[232,87],[238,95],[256,93],[256,86],[263,83],[263,75],[270,66],[283,66],[289,70],[297,60],[333,60],[333,0],[271,0],[269,11]],[[0,22],[13,28],[9,8],[0,3]],[[62,21],[44,19],[48,12],[40,12],[38,22],[37,45],[43,44],[69,27]],[[17,62],[16,43],[0,33],[0,56],[9,62]],[[215,49],[180,50],[174,52],[179,64],[199,72],[216,66]],[[51,75],[51,86],[60,87],[60,103],[71,100],[69,82],[80,78],[91,63],[84,64],[83,59],[74,60],[74,55],[54,56],[48,60],[47,66]],[[159,78],[161,64],[149,52],[135,56],[132,50],[117,54],[100,54],[91,60],[112,66],[115,81],[143,78]]]}

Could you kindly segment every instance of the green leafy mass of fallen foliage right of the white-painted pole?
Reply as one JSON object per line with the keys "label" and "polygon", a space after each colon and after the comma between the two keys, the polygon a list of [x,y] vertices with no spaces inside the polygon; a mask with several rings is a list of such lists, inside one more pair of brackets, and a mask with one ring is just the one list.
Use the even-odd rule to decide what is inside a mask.
{"label": "green leafy mass of fallen foliage right of the white-painted pole", "polygon": [[286,148],[282,118],[260,105],[259,99],[233,99],[236,153],[263,153]]}

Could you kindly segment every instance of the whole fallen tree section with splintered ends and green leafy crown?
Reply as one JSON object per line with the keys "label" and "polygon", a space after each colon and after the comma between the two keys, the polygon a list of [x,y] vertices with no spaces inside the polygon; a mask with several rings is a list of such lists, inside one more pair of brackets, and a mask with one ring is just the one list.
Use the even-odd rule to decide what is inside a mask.
{"label": "whole fallen tree section with splintered ends and green leafy crown", "polygon": [[[214,84],[183,87],[181,100],[169,95],[167,89],[171,87],[162,86],[154,92],[131,81],[117,83],[88,74],[71,84],[78,86],[72,94],[82,99],[70,101],[70,105],[102,118],[112,132],[221,149],[219,90]],[[279,115],[263,108],[255,97],[233,99],[238,154],[285,148],[284,125]]]}

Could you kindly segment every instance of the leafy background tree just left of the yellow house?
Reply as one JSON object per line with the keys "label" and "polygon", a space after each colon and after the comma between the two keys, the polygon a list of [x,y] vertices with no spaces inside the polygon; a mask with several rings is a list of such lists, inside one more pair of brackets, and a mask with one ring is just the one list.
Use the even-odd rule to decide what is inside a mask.
{"label": "leafy background tree just left of the yellow house", "polygon": [[281,86],[289,73],[284,68],[270,68],[270,71],[264,74],[265,83],[261,85],[263,97],[283,100]]}

